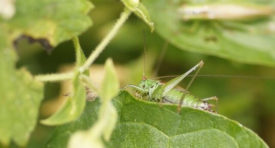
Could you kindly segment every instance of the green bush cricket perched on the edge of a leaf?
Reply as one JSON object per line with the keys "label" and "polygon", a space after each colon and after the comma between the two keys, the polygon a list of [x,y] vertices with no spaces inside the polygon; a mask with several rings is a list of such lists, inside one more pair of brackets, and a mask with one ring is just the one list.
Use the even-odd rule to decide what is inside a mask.
{"label": "green bush cricket perched on the edge of a leaf", "polygon": [[[144,61],[145,61],[145,48],[144,48]],[[145,62],[144,62],[145,63]],[[127,87],[132,88],[136,91],[135,96],[142,99],[144,96],[148,96],[149,101],[161,102],[161,103],[173,103],[179,104],[178,112],[181,109],[181,105],[192,107],[196,109],[201,109],[209,112],[218,112],[218,98],[216,96],[210,98],[199,99],[194,95],[190,94],[187,90],[191,86],[191,83],[195,79],[198,71],[203,65],[203,61],[200,61],[196,66],[187,71],[186,73],[179,75],[168,82],[162,82],[159,80],[153,80],[145,77],[145,64],[143,77],[139,85],[127,84],[120,90],[124,90]],[[191,72],[197,70],[191,81],[189,82],[186,89],[178,87],[177,84],[188,76]],[[214,107],[213,104],[206,102],[207,100],[215,100],[215,111],[211,108]]]}

